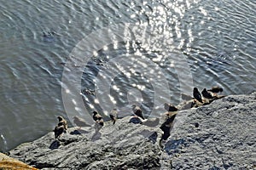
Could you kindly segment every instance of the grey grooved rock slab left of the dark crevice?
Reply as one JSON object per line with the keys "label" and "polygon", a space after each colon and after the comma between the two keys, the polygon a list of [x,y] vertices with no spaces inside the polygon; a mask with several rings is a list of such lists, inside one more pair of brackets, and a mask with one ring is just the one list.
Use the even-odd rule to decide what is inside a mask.
{"label": "grey grooved rock slab left of the dark crevice", "polygon": [[10,156],[40,169],[159,169],[160,129],[128,123],[130,118],[106,122],[99,133],[94,127],[68,128],[59,141],[48,133],[10,150]]}

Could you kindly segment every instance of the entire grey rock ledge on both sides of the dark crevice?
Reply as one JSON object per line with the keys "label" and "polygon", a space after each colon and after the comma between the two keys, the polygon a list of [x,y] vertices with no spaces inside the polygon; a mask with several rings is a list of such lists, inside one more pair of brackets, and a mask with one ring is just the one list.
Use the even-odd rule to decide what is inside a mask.
{"label": "entire grey rock ledge on both sides of the dark crevice", "polygon": [[128,123],[130,117],[94,127],[68,129],[55,141],[48,133],[10,150],[10,156],[42,169],[255,169],[256,93],[218,99],[179,111],[159,146],[160,125]]}

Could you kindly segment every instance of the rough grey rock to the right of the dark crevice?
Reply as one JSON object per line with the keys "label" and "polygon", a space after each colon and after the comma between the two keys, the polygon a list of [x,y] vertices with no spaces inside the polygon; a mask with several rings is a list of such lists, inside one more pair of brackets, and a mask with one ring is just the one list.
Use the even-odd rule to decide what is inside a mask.
{"label": "rough grey rock to the right of the dark crevice", "polygon": [[[173,169],[256,167],[256,93],[179,113],[165,150]],[[178,120],[178,117],[177,117]]]}

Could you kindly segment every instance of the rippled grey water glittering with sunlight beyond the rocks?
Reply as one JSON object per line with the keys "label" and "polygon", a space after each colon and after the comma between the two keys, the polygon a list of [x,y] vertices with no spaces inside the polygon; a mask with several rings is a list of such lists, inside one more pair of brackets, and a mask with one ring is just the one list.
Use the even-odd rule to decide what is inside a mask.
{"label": "rippled grey water glittering with sunlight beyond the rocks", "polygon": [[[102,111],[101,105],[107,105],[110,98],[111,105],[119,110],[130,111],[131,103],[137,102],[149,114],[154,102],[177,104],[181,89],[189,92],[191,84],[200,89],[220,85],[224,94],[249,94],[255,90],[254,0],[1,0],[0,4],[0,149],[3,151],[48,133],[55,127],[56,116],[69,117],[61,95],[61,87],[64,91],[67,87],[61,83],[61,77],[65,64],[72,60],[69,54],[86,35],[106,26],[120,23],[148,26],[152,36],[147,34],[147,38],[151,42],[137,42],[140,36],[137,35],[131,42],[105,44],[85,68],[79,67],[79,62],[73,65],[73,70],[84,71],[82,88],[95,88],[96,97],[100,98],[84,95],[89,111],[94,108]],[[118,63],[118,59],[129,60],[135,54],[142,61],[137,63],[138,70],[132,70],[133,65],[124,67],[124,62]],[[160,68],[161,74],[154,69],[143,74],[143,64],[148,63],[150,68]],[[111,71],[118,74],[110,71],[104,75],[112,67]],[[99,73],[113,81],[104,84],[104,77],[97,78]],[[163,75],[165,80],[161,82]],[[69,78],[71,84],[75,82],[75,77]],[[163,86],[164,82],[169,87]],[[110,89],[107,94],[104,87]],[[164,88],[157,94],[163,94],[163,98],[154,101],[157,87]],[[74,105],[78,103],[75,98],[72,101]],[[79,109],[78,113],[83,116]]]}

